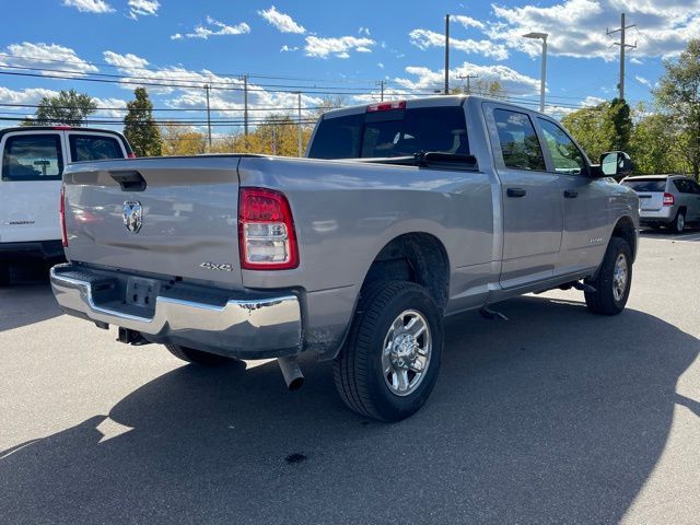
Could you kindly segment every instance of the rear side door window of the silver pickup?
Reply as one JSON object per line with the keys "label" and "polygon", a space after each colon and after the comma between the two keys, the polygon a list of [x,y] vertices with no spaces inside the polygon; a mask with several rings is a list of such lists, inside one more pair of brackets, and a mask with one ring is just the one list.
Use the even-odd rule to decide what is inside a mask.
{"label": "rear side door window of the silver pickup", "polygon": [[493,118],[505,167],[536,172],[547,170],[535,127],[526,114],[495,109]]}

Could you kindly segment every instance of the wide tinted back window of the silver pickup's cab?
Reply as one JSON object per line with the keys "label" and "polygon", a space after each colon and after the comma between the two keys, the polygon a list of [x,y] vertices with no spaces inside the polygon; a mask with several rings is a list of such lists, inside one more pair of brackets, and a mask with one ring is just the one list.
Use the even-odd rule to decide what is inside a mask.
{"label": "wide tinted back window of the silver pickup's cab", "polygon": [[469,154],[462,106],[392,109],[323,120],[312,159],[377,159],[420,152]]}

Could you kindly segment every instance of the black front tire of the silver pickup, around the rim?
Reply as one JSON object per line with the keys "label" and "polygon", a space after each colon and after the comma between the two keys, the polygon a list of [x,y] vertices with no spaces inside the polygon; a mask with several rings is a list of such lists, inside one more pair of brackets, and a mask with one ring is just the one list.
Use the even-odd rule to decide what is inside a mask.
{"label": "black front tire of the silver pickup, around the rim", "polygon": [[[625,257],[627,264],[623,293],[619,293],[619,288],[616,292],[615,272],[620,257]],[[632,250],[627,241],[620,237],[610,238],[598,275],[595,279],[586,280],[586,283],[596,289],[595,292],[585,292],[586,306],[592,313],[617,315],[625,310],[632,288]]]}

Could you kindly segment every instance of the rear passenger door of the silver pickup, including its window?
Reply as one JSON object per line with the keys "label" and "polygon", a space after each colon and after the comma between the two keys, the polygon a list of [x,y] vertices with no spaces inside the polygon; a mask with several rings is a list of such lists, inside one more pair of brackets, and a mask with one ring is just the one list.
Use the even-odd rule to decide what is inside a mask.
{"label": "rear passenger door of the silver pickup, including its window", "polygon": [[563,228],[561,189],[559,175],[547,171],[529,115],[489,106],[487,120],[503,206],[500,282],[515,288],[553,276]]}

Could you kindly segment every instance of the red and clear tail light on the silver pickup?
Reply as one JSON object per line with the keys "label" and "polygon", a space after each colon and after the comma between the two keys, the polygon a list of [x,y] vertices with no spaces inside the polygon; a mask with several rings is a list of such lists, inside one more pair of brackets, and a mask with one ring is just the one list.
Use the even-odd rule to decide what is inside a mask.
{"label": "red and clear tail light on the silver pickup", "polygon": [[271,189],[241,188],[238,242],[243,269],[296,268],[296,233],[287,197]]}

